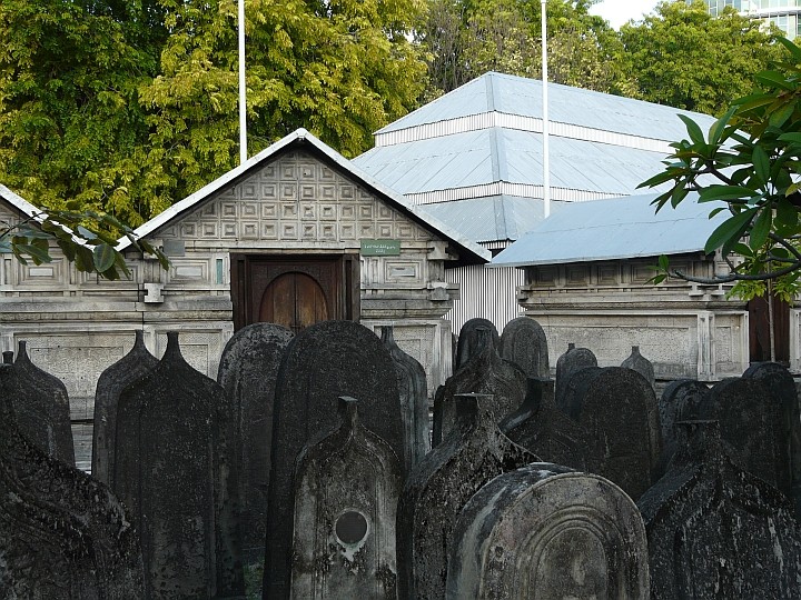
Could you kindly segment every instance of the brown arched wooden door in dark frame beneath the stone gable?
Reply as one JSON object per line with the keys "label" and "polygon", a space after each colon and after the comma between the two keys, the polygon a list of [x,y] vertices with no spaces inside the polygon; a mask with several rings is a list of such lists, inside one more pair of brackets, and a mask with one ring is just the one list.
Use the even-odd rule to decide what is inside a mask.
{"label": "brown arched wooden door in dark frame beneath the stone gable", "polygon": [[354,254],[231,254],[234,328],[273,322],[297,333],[328,319],[358,320],[358,268]]}

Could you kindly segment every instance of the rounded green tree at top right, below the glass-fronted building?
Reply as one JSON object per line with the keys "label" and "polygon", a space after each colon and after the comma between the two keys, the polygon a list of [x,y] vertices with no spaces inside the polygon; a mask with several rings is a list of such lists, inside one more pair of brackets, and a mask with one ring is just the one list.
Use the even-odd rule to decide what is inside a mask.
{"label": "rounded green tree at top right, below the glass-fronted building", "polygon": [[655,14],[621,28],[619,60],[636,82],[634,98],[719,116],[778,59],[779,37],[731,7],[712,17],[700,0],[664,1]]}

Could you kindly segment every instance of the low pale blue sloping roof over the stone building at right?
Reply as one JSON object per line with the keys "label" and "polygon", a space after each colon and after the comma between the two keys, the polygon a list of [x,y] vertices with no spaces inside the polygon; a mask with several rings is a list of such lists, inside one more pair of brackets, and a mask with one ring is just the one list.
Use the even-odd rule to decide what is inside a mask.
{"label": "low pale blue sloping roof over the stone building at right", "polygon": [[659,212],[656,194],[594,202],[572,202],[497,254],[490,267],[532,267],[703,251],[706,239],[726,218],[709,218],[721,206],[698,203],[691,193],[675,209]]}

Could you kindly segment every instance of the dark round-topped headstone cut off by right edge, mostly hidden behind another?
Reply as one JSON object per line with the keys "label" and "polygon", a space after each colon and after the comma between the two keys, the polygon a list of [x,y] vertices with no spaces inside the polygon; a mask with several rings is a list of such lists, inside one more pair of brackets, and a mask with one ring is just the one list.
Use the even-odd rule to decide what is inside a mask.
{"label": "dark round-topped headstone cut off by right edge, mostly hidden behind another", "polygon": [[795,381],[785,367],[775,362],[754,364],[743,373],[743,378],[765,383],[781,406],[791,478],[790,490],[785,493],[793,501],[795,518],[801,519],[801,407]]}

